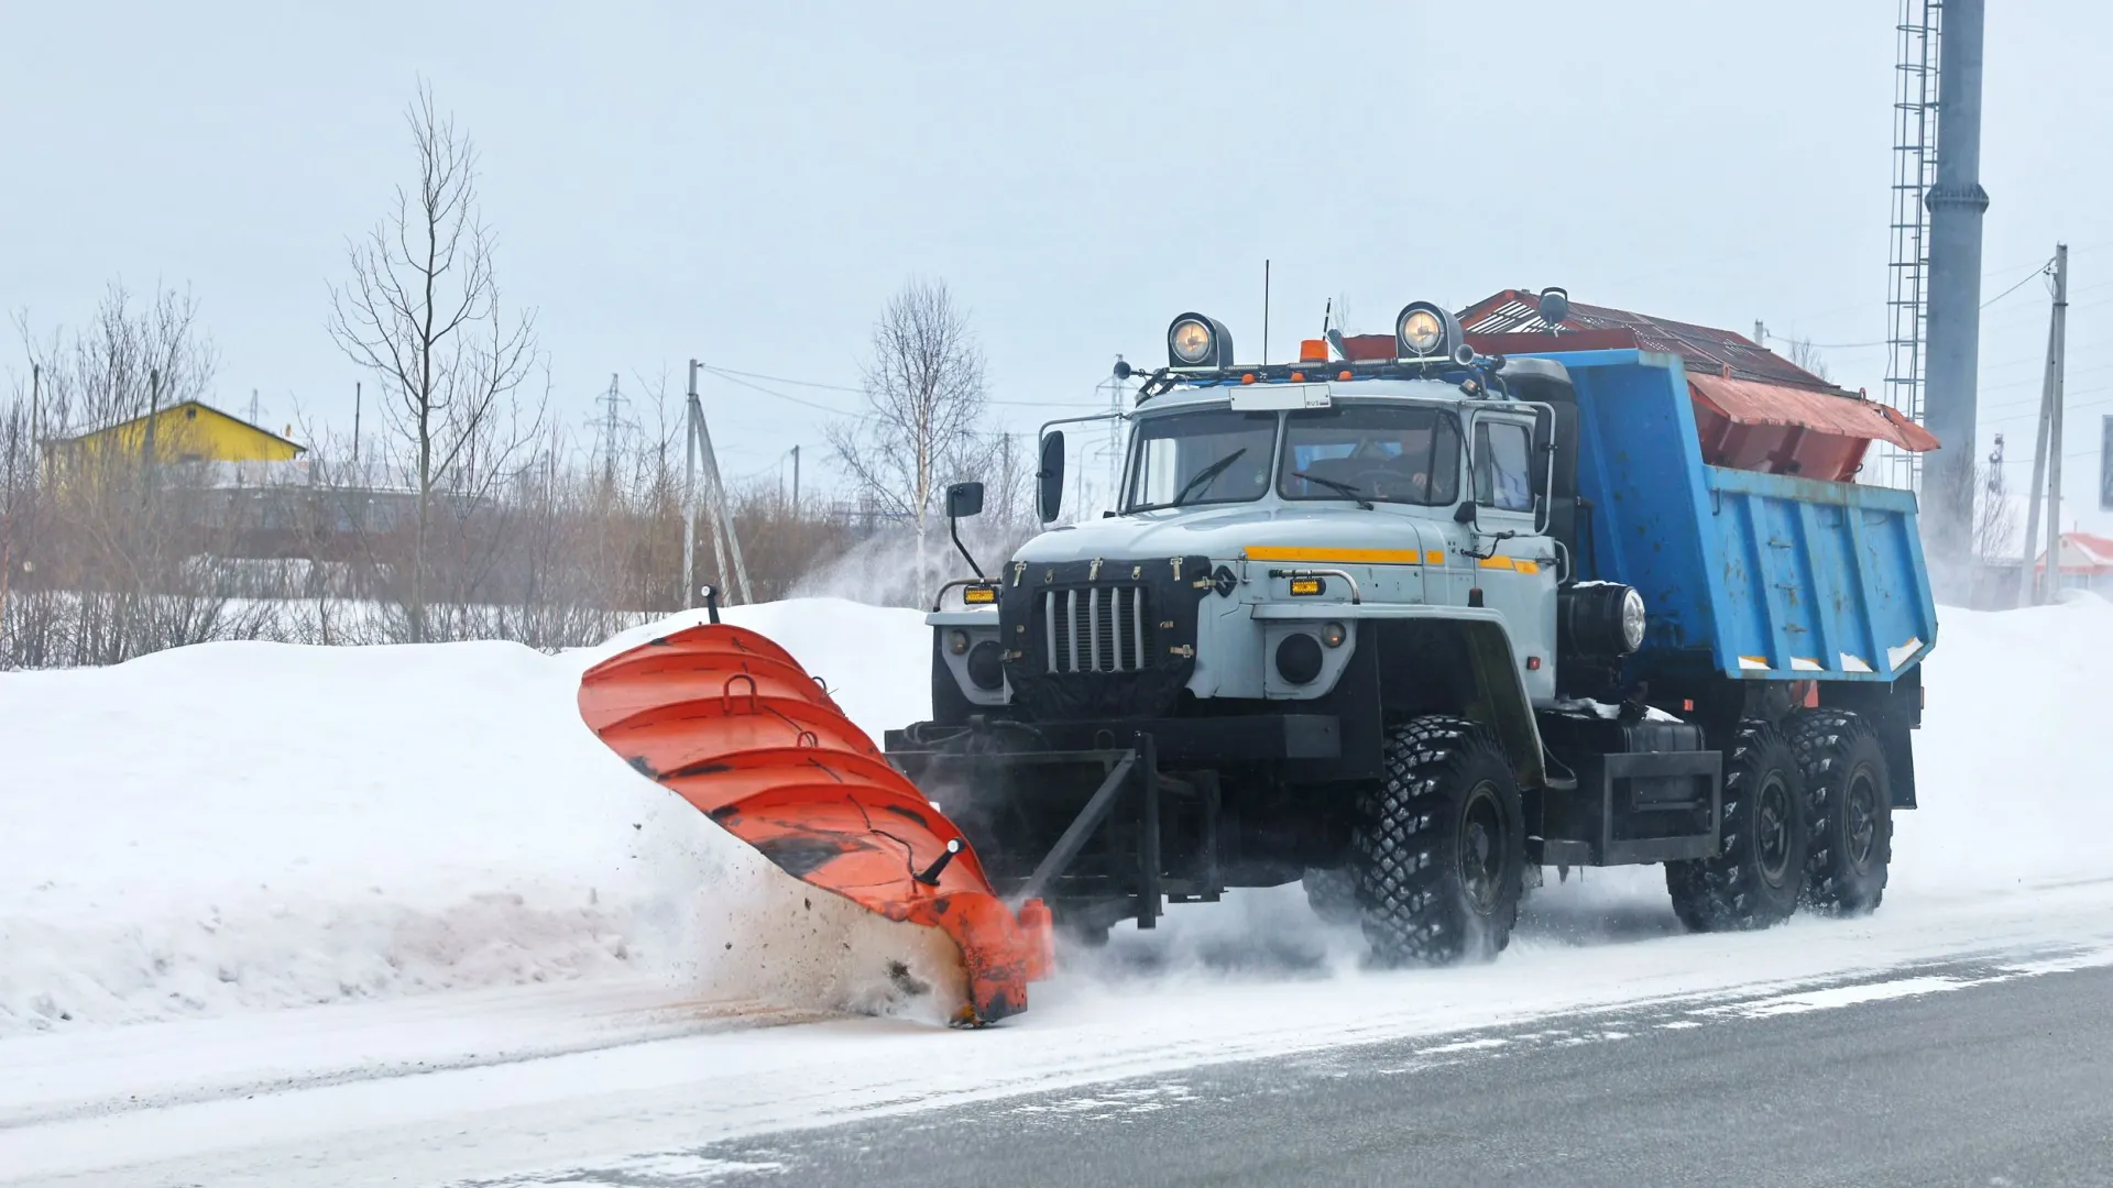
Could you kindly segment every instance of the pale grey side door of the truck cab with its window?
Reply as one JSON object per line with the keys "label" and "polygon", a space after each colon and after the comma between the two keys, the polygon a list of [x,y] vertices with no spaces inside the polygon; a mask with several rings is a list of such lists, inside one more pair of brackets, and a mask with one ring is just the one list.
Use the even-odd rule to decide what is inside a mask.
{"label": "pale grey side door of the truck cab with its window", "polygon": [[[1471,429],[1471,488],[1475,501],[1473,550],[1492,554],[1469,560],[1483,607],[1504,615],[1511,647],[1534,702],[1555,698],[1555,556],[1540,533],[1547,503],[1547,465],[1534,459],[1534,419],[1519,412],[1479,412]],[[1511,533],[1507,539],[1504,533]]]}

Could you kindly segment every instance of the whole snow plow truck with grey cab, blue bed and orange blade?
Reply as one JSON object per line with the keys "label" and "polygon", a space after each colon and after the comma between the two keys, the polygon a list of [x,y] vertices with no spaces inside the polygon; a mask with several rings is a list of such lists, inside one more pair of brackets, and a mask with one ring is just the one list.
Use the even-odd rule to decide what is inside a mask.
{"label": "whole snow plow truck with grey cab, blue bed and orange blade", "polygon": [[[1878,907],[1938,624],[1914,495],[1855,478],[1876,442],[1933,448],[1919,425],[1562,290],[1411,302],[1268,366],[1183,313],[1166,366],[1118,376],[1114,505],[1063,522],[1046,425],[1052,526],[991,573],[961,550],[930,721],[830,742],[809,681],[721,664],[623,702],[672,750],[634,755],[623,714],[604,740],[716,786],[685,795],[786,871],[949,928],[964,1021],[1025,1006],[1052,930],[1230,888],[1304,881],[1382,964],[1494,955],[1547,867],[1663,865],[1695,930]],[[750,736],[699,736],[699,704]],[[729,780],[759,750],[782,767]]]}

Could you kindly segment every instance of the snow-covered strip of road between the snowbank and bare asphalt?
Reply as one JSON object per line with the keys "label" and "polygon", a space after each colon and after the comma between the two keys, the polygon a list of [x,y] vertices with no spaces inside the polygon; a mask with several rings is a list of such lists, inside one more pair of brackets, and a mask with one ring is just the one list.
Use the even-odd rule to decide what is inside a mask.
{"label": "snow-covered strip of road between the snowbank and bare asphalt", "polygon": [[1853,1006],[1874,996],[1834,987],[1938,960],[2113,964],[2113,881],[1750,936],[1566,945],[1534,941],[1542,924],[1469,970],[1063,979],[980,1034],[604,981],[19,1038],[0,1184],[556,1184],[733,1137],[1608,1008]]}

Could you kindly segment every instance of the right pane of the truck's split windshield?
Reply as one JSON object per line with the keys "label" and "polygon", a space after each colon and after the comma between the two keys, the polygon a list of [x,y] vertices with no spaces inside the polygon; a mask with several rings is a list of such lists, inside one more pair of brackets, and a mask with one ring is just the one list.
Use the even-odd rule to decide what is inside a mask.
{"label": "right pane of the truck's split windshield", "polygon": [[1460,497],[1460,423],[1441,408],[1399,404],[1293,412],[1276,490],[1285,499],[1452,503]]}

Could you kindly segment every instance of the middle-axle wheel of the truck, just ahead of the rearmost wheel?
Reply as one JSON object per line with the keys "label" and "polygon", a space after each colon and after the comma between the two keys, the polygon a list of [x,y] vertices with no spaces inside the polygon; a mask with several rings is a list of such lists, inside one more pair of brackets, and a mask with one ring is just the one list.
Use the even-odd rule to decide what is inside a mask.
{"label": "middle-axle wheel of the truck, just ahead of the rearmost wheel", "polygon": [[1665,865],[1673,913],[1695,932],[1769,928],[1798,909],[1807,854],[1805,774],[1790,740],[1739,723],[1724,757],[1724,827],[1716,858]]}

